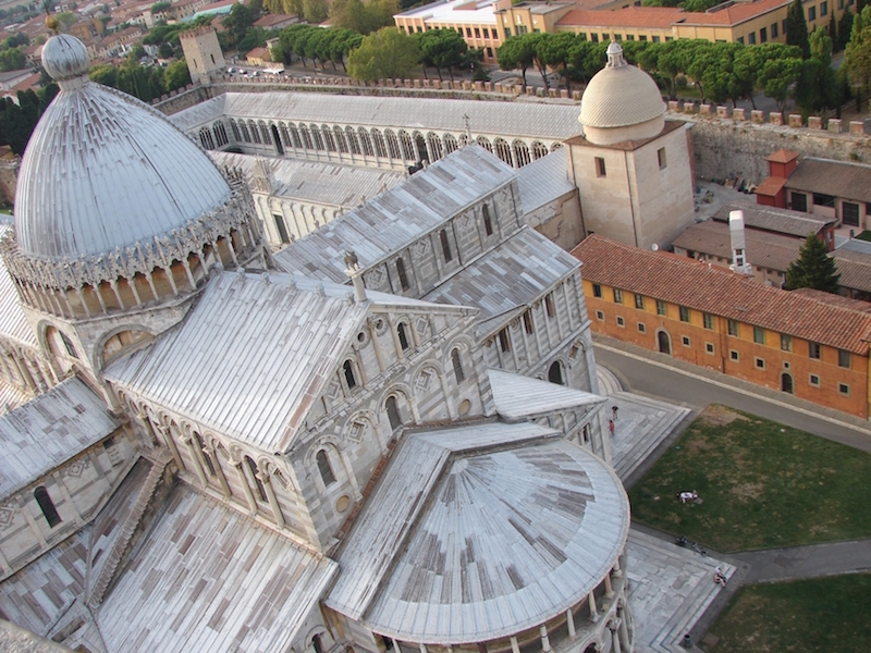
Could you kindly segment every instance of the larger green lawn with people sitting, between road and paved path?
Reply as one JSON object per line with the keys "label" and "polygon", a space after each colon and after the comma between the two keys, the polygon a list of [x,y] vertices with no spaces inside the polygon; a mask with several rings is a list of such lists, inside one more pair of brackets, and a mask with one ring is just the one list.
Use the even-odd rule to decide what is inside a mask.
{"label": "larger green lawn with people sitting, between road and paved path", "polygon": [[636,521],[728,553],[871,537],[868,479],[869,454],[709,406],[629,498]]}

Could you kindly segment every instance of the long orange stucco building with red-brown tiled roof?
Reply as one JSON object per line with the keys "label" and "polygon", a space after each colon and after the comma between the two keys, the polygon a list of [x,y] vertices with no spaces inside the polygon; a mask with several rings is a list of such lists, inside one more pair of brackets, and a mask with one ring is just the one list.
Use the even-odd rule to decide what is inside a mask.
{"label": "long orange stucco building with red-brown tiled roof", "polygon": [[573,255],[594,332],[869,418],[871,305],[596,235]]}

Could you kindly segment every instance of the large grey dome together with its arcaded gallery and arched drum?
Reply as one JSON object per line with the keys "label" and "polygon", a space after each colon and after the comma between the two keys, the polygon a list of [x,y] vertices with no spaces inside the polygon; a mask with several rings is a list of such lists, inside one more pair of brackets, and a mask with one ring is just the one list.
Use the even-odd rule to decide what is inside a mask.
{"label": "large grey dome together with its arcaded gallery and arched drum", "polygon": [[24,152],[2,255],[59,377],[179,322],[212,268],[270,261],[250,195],[163,114],[88,79],[84,44],[52,36],[60,86]]}

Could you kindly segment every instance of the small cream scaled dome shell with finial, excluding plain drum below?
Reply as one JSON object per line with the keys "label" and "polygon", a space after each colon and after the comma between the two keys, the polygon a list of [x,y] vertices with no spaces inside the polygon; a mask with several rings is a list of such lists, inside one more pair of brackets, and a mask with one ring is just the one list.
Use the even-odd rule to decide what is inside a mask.
{"label": "small cream scaled dome shell with finial, excluding plain drum below", "polygon": [[580,100],[580,123],[586,127],[626,127],[659,118],[665,102],[642,70],[626,63],[623,48],[612,41],[605,67],[593,75]]}

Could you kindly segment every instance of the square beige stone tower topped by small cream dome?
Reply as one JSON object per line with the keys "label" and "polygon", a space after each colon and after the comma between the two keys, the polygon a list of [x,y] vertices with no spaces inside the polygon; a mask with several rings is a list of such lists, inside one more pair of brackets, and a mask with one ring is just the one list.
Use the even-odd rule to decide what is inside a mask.
{"label": "square beige stone tower topped by small cream dome", "polygon": [[667,247],[695,217],[689,132],[665,120],[653,78],[612,41],[580,102],[584,136],[567,141],[586,233]]}

